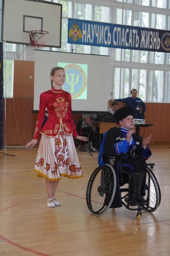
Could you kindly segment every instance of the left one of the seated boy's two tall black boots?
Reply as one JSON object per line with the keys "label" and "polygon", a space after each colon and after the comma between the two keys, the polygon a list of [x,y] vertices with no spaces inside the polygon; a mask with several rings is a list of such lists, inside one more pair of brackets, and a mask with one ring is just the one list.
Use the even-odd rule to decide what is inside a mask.
{"label": "left one of the seated boy's two tall black boots", "polygon": [[129,204],[131,206],[133,205],[139,205],[140,203],[137,200],[137,186],[138,186],[138,179],[139,174],[138,173],[131,173],[130,174],[130,196],[129,196]]}

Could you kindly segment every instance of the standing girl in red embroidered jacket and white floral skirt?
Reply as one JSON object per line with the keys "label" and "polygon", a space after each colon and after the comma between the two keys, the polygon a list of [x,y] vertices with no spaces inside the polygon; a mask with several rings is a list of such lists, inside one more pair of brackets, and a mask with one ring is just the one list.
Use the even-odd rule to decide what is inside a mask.
{"label": "standing girl in red embroidered jacket and white floral skirt", "polygon": [[[76,131],[72,118],[71,95],[62,89],[65,82],[64,69],[55,67],[50,75],[52,88],[40,95],[40,110],[34,137],[25,147],[33,147],[37,143],[39,134],[42,134],[34,171],[37,172],[38,177],[45,177],[47,206],[55,207],[60,205],[55,198],[55,191],[61,177],[69,179],[83,177],[73,137],[83,141],[88,141],[88,138],[78,136]],[[48,119],[41,129],[46,108]]]}

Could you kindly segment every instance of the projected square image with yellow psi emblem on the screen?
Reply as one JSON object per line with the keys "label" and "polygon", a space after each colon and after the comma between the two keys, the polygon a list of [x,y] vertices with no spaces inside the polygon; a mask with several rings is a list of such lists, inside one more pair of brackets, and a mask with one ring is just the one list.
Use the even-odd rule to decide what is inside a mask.
{"label": "projected square image with yellow psi emblem on the screen", "polygon": [[58,63],[65,70],[66,80],[63,89],[74,99],[87,99],[87,65]]}

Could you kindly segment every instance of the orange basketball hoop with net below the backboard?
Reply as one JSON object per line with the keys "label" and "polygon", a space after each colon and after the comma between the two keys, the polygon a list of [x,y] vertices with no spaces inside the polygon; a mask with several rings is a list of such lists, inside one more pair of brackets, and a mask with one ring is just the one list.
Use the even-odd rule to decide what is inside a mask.
{"label": "orange basketball hoop with net below the backboard", "polygon": [[41,41],[42,36],[48,34],[48,31],[43,30],[31,30],[30,31],[30,44],[36,48],[44,48],[46,41]]}

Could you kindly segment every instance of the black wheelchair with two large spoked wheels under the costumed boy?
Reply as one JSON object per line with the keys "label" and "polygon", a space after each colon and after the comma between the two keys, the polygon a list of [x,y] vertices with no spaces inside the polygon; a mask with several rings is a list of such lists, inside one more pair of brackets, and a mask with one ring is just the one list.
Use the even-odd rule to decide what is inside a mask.
{"label": "black wheelchair with two large spoked wheels under the costumed boy", "polygon": [[[150,165],[150,164],[148,164]],[[152,170],[147,166],[144,179],[144,199],[147,205],[130,206],[130,175],[126,171],[120,171],[119,185],[122,205],[131,211],[137,211],[137,219],[140,220],[142,211],[155,212],[161,201],[161,192]],[[122,180],[126,177],[126,180]],[[122,187],[121,187],[122,186]],[[125,188],[124,188],[125,187]],[[112,165],[105,164],[98,166],[92,173],[86,190],[87,207],[95,216],[101,216],[109,209],[116,191],[116,173]]]}

